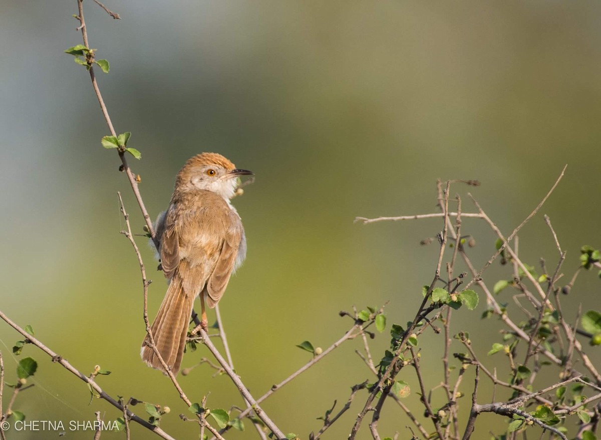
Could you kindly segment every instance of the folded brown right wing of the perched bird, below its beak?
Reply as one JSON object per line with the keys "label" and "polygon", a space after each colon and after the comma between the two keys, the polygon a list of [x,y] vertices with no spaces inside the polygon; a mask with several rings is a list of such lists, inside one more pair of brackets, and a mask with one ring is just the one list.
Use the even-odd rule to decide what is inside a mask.
{"label": "folded brown right wing of the perched bird, below its beak", "polygon": [[225,236],[215,269],[207,280],[207,293],[209,293],[207,304],[209,307],[215,307],[225,292],[230,275],[234,271],[234,263],[243,234],[242,224],[239,224],[239,227],[231,228]]}

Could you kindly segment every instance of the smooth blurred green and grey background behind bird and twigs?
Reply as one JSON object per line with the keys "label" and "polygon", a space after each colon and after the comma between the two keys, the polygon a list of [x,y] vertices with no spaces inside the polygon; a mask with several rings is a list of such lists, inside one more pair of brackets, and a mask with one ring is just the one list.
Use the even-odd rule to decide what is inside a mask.
{"label": "smooth blurred green and grey background behind bird and twigs", "polygon": [[[540,257],[557,263],[544,213],[568,251],[566,278],[578,266],[581,245],[601,246],[599,2],[106,5],[122,20],[85,2],[90,44],[97,58],[111,62],[109,75],[97,70],[99,85],[115,129],[131,131],[130,145],[142,151],[141,162],[130,163],[151,215],[165,209],[178,169],[201,151],[222,153],[257,175],[234,200],[248,259],[221,302],[237,372],[255,396],[310,359],[295,344],[310,340],[326,348],[349,328],[340,310],[389,301],[389,323],[412,319],[438,253],[419,240],[434,236],[441,221],[359,225],[353,218],[432,212],[438,177],[481,180],[479,188],[456,185],[453,194],[463,195],[468,211],[465,194],[472,192],[509,233],[567,163],[557,191],[520,234],[520,255],[536,266]],[[109,133],[90,78],[63,53],[81,43],[76,12],[75,0],[0,2],[0,307],[84,373],[96,364],[113,371],[98,380],[112,396],[169,405],[163,429],[197,438],[197,426],[178,418],[188,413],[169,380],[139,359],[142,289],[130,243],[119,234],[117,191],[139,232],[143,220],[117,155],[100,145]],[[474,220],[466,219],[463,231],[477,240],[469,253],[481,266],[495,237]],[[142,237],[137,241],[152,269],[151,249]],[[484,280],[492,286],[510,279],[508,270],[494,264]],[[154,317],[165,283],[159,272],[150,276]],[[585,310],[601,307],[600,285],[594,273],[581,274],[564,301],[570,322],[581,302]],[[512,302],[509,291],[501,295]],[[472,332],[489,365],[504,362],[485,357],[502,327],[481,321],[483,310],[481,301],[475,312],[457,312],[455,330]],[[0,325],[0,339],[10,382],[18,359],[10,348],[19,337]],[[388,330],[377,335],[374,357],[388,340]],[[441,342],[431,334],[421,341],[429,387],[442,378]],[[600,349],[585,347],[599,365]],[[341,408],[351,385],[371,380],[354,353],[359,348],[359,340],[344,344],[264,403],[282,430],[306,439],[335,399]],[[88,405],[85,384],[35,347],[23,355],[39,362],[35,387],[15,405],[30,420],[92,420],[97,410],[107,420],[119,416],[100,400]],[[183,364],[203,356],[210,355],[201,347]],[[535,387],[553,383],[556,373],[538,376]],[[188,396],[200,401],[210,393],[211,408],[243,405],[228,377],[212,374],[202,365],[182,377]],[[407,403],[421,415],[414,373],[401,378],[413,384]],[[486,387],[481,403],[491,396]],[[360,393],[324,438],[346,438],[363,402]],[[506,426],[490,415],[480,423],[478,438]],[[380,434],[399,430],[409,438],[407,424],[386,403]],[[154,438],[132,429],[132,438]],[[11,439],[54,436],[10,433]],[[92,436],[67,431],[65,437]],[[245,432],[227,438],[255,436],[247,423]],[[370,438],[367,423],[359,438]]]}

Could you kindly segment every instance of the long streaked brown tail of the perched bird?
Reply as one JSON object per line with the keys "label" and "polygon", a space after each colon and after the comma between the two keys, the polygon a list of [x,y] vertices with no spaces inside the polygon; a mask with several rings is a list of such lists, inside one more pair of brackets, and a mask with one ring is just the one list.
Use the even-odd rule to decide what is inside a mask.
{"label": "long streaked brown tail of the perched bird", "polygon": [[[173,374],[177,374],[182,364],[194,298],[195,295],[185,292],[179,274],[175,273],[171,283],[169,283],[169,288],[163,303],[160,305],[159,312],[154,318],[153,325],[150,327],[157,351],[168,367],[171,367]],[[148,335],[142,342],[141,356],[148,366],[161,370],[166,374],[159,357],[150,347],[150,337]]]}

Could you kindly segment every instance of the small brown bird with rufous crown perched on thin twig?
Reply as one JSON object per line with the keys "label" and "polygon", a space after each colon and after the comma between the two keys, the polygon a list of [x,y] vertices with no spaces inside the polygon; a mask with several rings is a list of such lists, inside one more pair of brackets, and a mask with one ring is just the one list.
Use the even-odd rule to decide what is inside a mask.
{"label": "small brown bird with rufous crown perched on thin twig", "polygon": [[[230,275],[246,257],[242,221],[230,199],[240,184],[239,170],[217,153],[202,153],[186,162],[175,178],[169,208],[157,218],[160,261],[169,287],[151,326],[161,357],[174,374],[180,369],[194,299],[200,295],[203,328],[206,299],[215,307]],[[142,359],[165,373],[146,335]]]}

